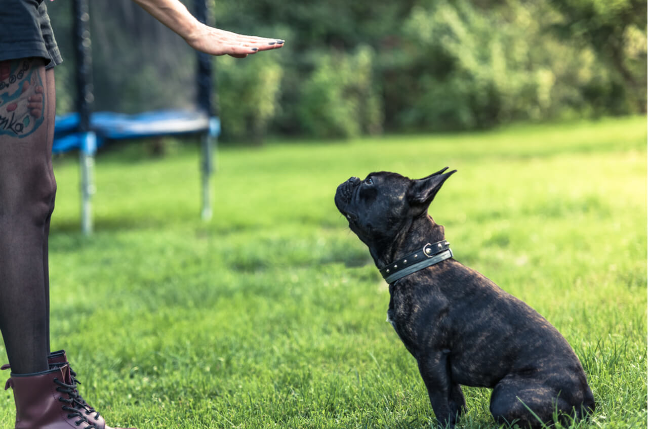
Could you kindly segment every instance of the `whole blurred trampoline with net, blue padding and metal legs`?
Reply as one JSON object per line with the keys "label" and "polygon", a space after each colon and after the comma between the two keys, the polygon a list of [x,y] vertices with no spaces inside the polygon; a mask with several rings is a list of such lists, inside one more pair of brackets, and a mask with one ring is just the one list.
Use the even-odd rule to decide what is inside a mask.
{"label": "whole blurred trampoline with net, blue padding and metal legs", "polygon": [[[220,134],[220,121],[213,113],[212,103],[213,57],[193,51],[171,30],[133,6],[130,0],[113,0],[105,4],[94,2],[93,10],[89,8],[88,0],[73,0],[71,4],[72,25],[65,28],[65,21],[61,19],[64,25],[60,29],[54,25],[57,22],[54,17],[57,12],[60,16],[62,11],[52,13],[53,5],[50,5],[51,15],[54,15],[52,25],[60,48],[66,60],[74,59],[73,73],[67,73],[67,78],[73,79],[70,86],[76,91],[73,111],[56,117],[52,152],[78,150],[80,155],[82,231],[86,235],[93,231],[91,200],[95,194],[93,177],[97,148],[121,139],[201,135],[201,216],[208,220],[212,216],[210,178],[214,172],[213,154]],[[208,22],[208,12],[206,0],[194,0],[192,13],[196,18]],[[99,18],[94,18],[95,15]],[[116,38],[118,40],[106,38],[106,34],[111,34],[110,30],[114,31],[107,28],[109,25],[120,26],[122,34]],[[104,34],[103,43],[101,38],[98,42],[91,41],[93,31]],[[151,52],[152,47],[159,51]],[[73,52],[66,55],[65,49]],[[122,54],[124,52],[126,54]],[[187,66],[190,60],[195,64],[192,67]],[[100,67],[96,66],[97,62],[101,63]],[[153,65],[147,69],[149,64]],[[135,69],[137,65],[139,69]],[[185,73],[187,69],[193,70],[191,75]],[[64,75],[65,71],[62,71]],[[178,76],[176,71],[181,75]],[[119,80],[115,77],[122,75],[126,78]],[[129,86],[131,82],[124,79],[135,82],[139,79],[153,84],[147,88],[137,84]],[[164,83],[168,81],[171,84]],[[180,90],[172,87],[178,82],[181,82],[178,85]],[[99,90],[95,91],[95,87]],[[143,96],[140,98],[144,102],[137,106],[125,104],[127,97],[119,97],[119,91],[124,87],[130,91],[128,102],[132,104],[133,91],[141,91]],[[168,102],[170,98],[174,103]],[[93,111],[96,105],[110,110]]]}

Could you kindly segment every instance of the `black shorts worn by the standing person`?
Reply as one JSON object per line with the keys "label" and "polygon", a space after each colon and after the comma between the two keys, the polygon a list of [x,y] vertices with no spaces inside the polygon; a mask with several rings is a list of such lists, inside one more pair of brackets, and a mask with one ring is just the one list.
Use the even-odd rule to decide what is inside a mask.
{"label": "black shorts worn by the standing person", "polygon": [[45,68],[61,64],[43,0],[3,0],[0,7],[0,61],[38,56]]}

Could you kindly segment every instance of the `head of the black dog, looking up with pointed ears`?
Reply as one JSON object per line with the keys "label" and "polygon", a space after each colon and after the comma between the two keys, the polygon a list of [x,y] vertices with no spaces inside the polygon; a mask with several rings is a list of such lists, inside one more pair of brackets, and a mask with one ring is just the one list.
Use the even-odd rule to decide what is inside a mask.
{"label": "head of the black dog, looking up with pointed ears", "polygon": [[389,246],[412,221],[427,214],[441,185],[454,172],[448,167],[422,179],[411,180],[397,173],[374,172],[360,180],[352,177],[341,183],[335,205],[369,249]]}

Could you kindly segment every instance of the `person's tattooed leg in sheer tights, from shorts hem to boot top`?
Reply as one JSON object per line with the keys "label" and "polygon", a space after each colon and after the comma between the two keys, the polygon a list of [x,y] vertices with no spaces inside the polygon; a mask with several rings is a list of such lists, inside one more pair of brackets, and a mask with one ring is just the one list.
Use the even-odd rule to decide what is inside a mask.
{"label": "person's tattooed leg in sheer tights, from shorts hem to boot top", "polygon": [[15,374],[49,369],[54,99],[42,59],[0,62],[0,330]]}

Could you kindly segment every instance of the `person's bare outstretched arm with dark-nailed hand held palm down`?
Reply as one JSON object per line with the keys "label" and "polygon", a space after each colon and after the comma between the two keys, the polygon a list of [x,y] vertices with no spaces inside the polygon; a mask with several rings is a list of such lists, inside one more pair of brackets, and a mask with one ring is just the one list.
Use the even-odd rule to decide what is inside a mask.
{"label": "person's bare outstretched arm with dark-nailed hand held palm down", "polygon": [[275,49],[284,41],[255,36],[243,36],[214,29],[200,23],[179,0],[133,0],[158,21],[176,32],[198,51],[212,55],[228,54],[243,58],[248,54]]}

